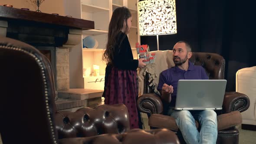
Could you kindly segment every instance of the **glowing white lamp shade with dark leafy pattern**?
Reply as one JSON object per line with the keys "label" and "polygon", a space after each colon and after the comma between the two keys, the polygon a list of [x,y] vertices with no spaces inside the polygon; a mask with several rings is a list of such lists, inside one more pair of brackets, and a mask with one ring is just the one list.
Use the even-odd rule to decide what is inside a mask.
{"label": "glowing white lamp shade with dark leafy pattern", "polygon": [[143,0],[138,2],[140,36],[176,34],[175,0]]}

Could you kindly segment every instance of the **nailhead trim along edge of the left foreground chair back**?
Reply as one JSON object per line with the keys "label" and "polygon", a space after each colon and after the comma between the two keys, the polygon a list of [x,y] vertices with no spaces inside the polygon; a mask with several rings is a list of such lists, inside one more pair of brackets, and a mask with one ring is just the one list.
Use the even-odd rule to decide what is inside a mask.
{"label": "nailhead trim along edge of the left foreground chair back", "polygon": [[20,51],[20,52],[24,52],[26,54],[29,54],[30,56],[32,56],[34,59],[36,59],[36,62],[39,64],[39,66],[41,67],[41,72],[42,72],[42,75],[43,75],[43,82],[44,82],[44,89],[45,89],[45,98],[46,98],[46,111],[47,111],[47,117],[49,119],[49,123],[50,123],[50,128],[51,128],[51,131],[52,131],[52,137],[53,137],[53,141],[54,141],[54,144],[57,144],[57,141],[56,141],[56,137],[55,137],[55,134],[54,134],[54,129],[53,129],[53,121],[52,121],[52,118],[50,116],[50,109],[49,109],[49,97],[48,97],[48,86],[47,86],[47,83],[46,83],[46,77],[45,77],[45,71],[43,69],[43,65],[42,65],[42,62],[40,61],[40,59],[38,59],[36,57],[36,55],[34,55],[33,53],[29,52],[29,51],[26,51],[24,49],[21,49],[21,48],[16,48],[16,47],[12,47],[12,46],[0,46],[0,48],[4,48],[4,49],[13,49],[13,50],[16,50],[16,51]]}

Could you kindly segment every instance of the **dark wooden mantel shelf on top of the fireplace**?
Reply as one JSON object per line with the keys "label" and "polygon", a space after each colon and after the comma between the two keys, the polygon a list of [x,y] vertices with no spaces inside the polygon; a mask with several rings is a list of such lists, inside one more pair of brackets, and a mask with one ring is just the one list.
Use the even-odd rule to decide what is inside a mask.
{"label": "dark wooden mantel shelf on top of the fireplace", "polygon": [[66,16],[57,16],[48,13],[40,13],[31,10],[21,10],[12,7],[0,6],[0,20],[21,20],[52,25],[65,26],[73,29],[94,29],[94,21],[76,19]]}

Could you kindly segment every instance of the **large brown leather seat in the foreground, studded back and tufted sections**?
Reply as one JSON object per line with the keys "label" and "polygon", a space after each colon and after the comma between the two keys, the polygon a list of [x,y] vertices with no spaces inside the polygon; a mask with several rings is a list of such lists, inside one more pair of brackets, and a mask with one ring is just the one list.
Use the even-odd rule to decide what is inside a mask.
{"label": "large brown leather seat in the foreground, studded back and tufted sections", "polygon": [[179,144],[167,129],[129,130],[125,105],[56,111],[53,71],[33,46],[0,36],[3,144]]}

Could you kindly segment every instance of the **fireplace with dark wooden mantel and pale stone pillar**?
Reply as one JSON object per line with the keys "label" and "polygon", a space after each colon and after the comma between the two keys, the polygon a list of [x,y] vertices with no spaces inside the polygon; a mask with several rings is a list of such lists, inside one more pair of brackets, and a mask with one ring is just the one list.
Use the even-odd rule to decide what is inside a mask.
{"label": "fireplace with dark wooden mantel and pale stone pillar", "polygon": [[56,90],[69,89],[69,48],[94,22],[0,6],[0,35],[28,43],[51,62]]}

